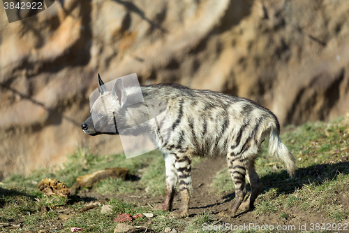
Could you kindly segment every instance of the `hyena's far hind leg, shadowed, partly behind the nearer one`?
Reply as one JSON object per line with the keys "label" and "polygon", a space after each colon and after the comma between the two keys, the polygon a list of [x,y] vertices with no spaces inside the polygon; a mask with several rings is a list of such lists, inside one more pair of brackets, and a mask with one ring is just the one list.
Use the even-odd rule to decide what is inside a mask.
{"label": "hyena's far hind leg, shadowed, partly behind the nearer one", "polygon": [[255,172],[255,164],[254,162],[250,162],[250,166],[248,166],[247,169],[247,179],[248,182],[251,185],[251,195],[248,197],[248,199],[242,203],[240,209],[247,211],[251,210],[254,207],[255,199],[258,197],[258,194],[260,193],[260,188],[262,188],[262,181],[260,181],[260,178]]}

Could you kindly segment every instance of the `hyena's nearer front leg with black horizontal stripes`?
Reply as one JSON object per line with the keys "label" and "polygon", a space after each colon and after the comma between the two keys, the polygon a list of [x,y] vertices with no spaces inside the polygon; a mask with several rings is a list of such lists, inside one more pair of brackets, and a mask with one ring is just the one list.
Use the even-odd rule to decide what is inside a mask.
{"label": "hyena's nearer front leg with black horizontal stripes", "polygon": [[189,199],[191,195],[191,157],[181,154],[176,157],[175,166],[179,179],[179,192],[181,193],[181,207],[173,211],[170,216],[185,218],[189,216]]}

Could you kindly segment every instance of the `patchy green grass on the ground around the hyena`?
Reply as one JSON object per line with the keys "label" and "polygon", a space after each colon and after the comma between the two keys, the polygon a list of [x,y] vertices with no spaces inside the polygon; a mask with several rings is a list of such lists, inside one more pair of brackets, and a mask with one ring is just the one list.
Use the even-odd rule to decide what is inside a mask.
{"label": "patchy green grass on the ground around the hyena", "polygon": [[[309,216],[320,213],[335,223],[348,223],[348,123],[343,118],[334,122],[309,122],[299,127],[285,127],[283,132],[281,140],[297,160],[296,176],[290,178],[283,170],[283,162],[270,157],[267,143],[263,143],[255,166],[263,186],[253,213],[260,216],[270,214],[281,221],[288,221],[297,213],[303,212]],[[200,160],[195,158],[193,162]],[[207,232],[203,226],[211,229],[209,227],[224,224],[205,211],[193,218],[178,220],[169,218],[168,212],[154,211],[149,206],[114,198],[102,203],[112,206],[109,213],[101,214],[102,205],[81,211],[89,202],[96,200],[46,197],[36,189],[38,182],[46,177],[57,178],[71,186],[77,176],[107,167],[127,167],[130,175],[126,181],[113,178],[100,181],[94,186],[96,192],[109,195],[147,190],[152,196],[165,192],[165,169],[160,153],[152,151],[126,160],[123,154],[101,156],[79,148],[61,167],[37,170],[29,176],[14,175],[0,183],[0,232],[70,232],[70,227],[82,227],[84,232],[113,232],[116,223],[112,220],[119,213],[154,213],[154,218],[137,218],[131,223],[154,232],[163,231],[166,227],[181,232]],[[211,192],[218,196],[234,192],[228,169],[216,174]],[[10,227],[1,227],[2,223]],[[215,232],[225,231],[218,229]]]}

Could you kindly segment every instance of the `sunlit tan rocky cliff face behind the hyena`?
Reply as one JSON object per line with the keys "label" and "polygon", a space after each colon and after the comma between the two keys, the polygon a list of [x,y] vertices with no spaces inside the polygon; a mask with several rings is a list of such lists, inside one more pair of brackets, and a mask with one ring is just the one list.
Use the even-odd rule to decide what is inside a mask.
{"label": "sunlit tan rocky cliff face behind the hyena", "polygon": [[247,97],[283,125],[349,108],[346,0],[61,0],[10,24],[0,11],[0,178],[77,146],[122,151],[80,129],[97,73]]}

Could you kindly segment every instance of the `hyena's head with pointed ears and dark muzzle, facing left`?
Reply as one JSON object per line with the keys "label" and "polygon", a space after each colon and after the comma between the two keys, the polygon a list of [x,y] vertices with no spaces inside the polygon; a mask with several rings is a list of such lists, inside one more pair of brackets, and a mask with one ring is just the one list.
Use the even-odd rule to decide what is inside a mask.
{"label": "hyena's head with pointed ears and dark muzzle, facing left", "polygon": [[[95,136],[98,134],[119,134],[117,122],[122,125],[126,122],[127,101],[126,90],[121,78],[118,78],[110,92],[104,85],[98,74],[99,97],[91,107],[91,115],[82,123],[81,127],[85,134]],[[126,124],[127,125],[127,124]]]}

